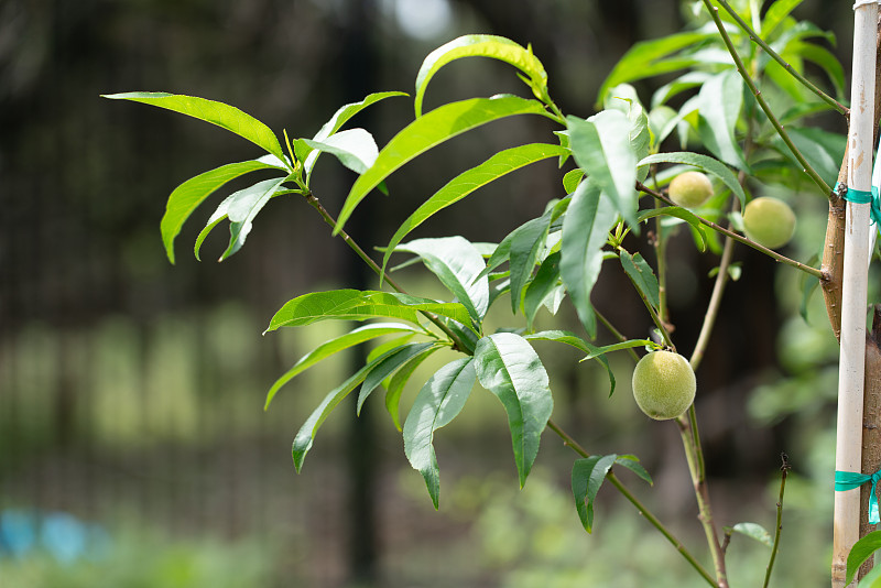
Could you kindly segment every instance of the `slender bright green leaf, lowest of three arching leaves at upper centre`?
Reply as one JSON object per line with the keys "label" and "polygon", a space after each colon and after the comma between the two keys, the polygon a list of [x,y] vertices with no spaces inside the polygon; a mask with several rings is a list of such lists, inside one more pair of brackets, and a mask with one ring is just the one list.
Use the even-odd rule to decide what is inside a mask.
{"label": "slender bright green leaf, lowest of three arching leaves at upper centre", "polygon": [[456,204],[476,189],[515,170],[520,170],[521,167],[525,167],[531,163],[542,160],[557,157],[564,153],[568,153],[568,151],[559,145],[530,143],[527,145],[500,151],[477,167],[472,167],[457,175],[447,182],[444,187],[434,193],[431,198],[425,200],[416,211],[410,215],[401,227],[399,227],[389,242],[389,247],[385,249],[385,254],[382,259],[383,271],[394,248],[398,247],[410,231],[425,222],[434,214],[443,210],[447,206]]}

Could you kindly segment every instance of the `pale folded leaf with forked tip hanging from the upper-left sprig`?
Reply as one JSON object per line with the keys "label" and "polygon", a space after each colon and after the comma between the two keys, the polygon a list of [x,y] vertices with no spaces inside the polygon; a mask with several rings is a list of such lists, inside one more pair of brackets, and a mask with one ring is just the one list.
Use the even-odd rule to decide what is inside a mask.
{"label": "pale folded leaf with forked tip hanging from the upper-left sprig", "polygon": [[286,179],[287,177],[264,179],[263,182],[258,182],[253,186],[240,189],[227,196],[214,211],[205,229],[203,229],[196,239],[196,259],[199,259],[199,249],[205,238],[211,229],[225,218],[228,218],[230,221],[229,246],[227,246],[226,251],[224,251],[218,261],[224,261],[241,249],[244,244],[244,240],[248,238],[248,233],[251,232],[254,218],[272,197],[284,189],[282,188],[282,184]]}

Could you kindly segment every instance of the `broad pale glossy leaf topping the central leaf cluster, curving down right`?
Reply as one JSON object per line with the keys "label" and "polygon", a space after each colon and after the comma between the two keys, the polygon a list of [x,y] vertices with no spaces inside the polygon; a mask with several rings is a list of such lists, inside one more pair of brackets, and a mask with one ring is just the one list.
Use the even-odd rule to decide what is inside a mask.
{"label": "broad pale glossy leaf topping the central leaf cluster, curving down right", "polygon": [[489,280],[478,280],[486,268],[480,252],[463,237],[417,239],[398,247],[398,251],[417,254],[425,266],[468,308],[480,324],[489,307]]}

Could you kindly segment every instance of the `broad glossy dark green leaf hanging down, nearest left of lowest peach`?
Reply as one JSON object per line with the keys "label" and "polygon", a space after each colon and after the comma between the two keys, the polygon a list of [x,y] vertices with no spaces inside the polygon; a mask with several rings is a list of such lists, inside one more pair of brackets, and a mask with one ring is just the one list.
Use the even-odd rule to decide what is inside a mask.
{"label": "broad glossy dark green leaf hanging down, nearest left of lowest peach", "polygon": [[475,366],[480,385],[496,394],[508,413],[522,488],[554,410],[547,372],[530,344],[513,333],[497,333],[480,339],[475,349]]}

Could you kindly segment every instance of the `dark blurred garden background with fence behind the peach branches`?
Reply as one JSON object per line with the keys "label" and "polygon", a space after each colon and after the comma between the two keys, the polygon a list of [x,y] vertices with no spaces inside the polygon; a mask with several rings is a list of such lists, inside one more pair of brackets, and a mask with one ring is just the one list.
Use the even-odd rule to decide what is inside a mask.
{"label": "dark blurred garden background with fence behind the peach branches", "polygon": [[[184,117],[98,98],[193,94],[236,105],[292,137],[312,137],[341,104],[412,88],[434,47],[486,32],[531,43],[557,104],[584,117],[618,58],[639,40],[681,29],[690,4],[0,1],[0,511],[34,520],[67,513],[107,536],[100,549],[61,560],[39,542],[15,552],[14,525],[0,524],[2,584],[699,586],[608,489],[594,535],[584,533],[568,490],[573,455],[555,439],[545,439],[535,473],[519,491],[504,418],[489,394],[472,395],[438,435],[440,513],[378,403],[358,424],[345,412],[334,415],[295,476],[294,432],[351,367],[328,360],[264,413],[272,381],[337,327],[260,333],[295,295],[368,279],[312,209],[293,199],[273,202],[248,247],[222,264],[185,254],[198,222],[185,227],[177,265],[170,265],[157,230],[167,194],[253,150]],[[806,0],[795,14],[837,35],[830,48],[849,70],[850,3]],[[662,83],[637,86],[648,97]],[[427,106],[519,91],[519,84],[503,64],[464,61],[438,74]],[[392,99],[357,123],[383,144],[412,117],[410,101]],[[844,132],[835,118],[817,124]],[[494,150],[546,140],[547,130],[544,121],[505,121],[452,141],[395,174],[391,197],[371,196],[348,228],[367,247],[383,246],[452,175]],[[352,176],[323,161],[313,187],[336,211]],[[414,237],[499,240],[562,195],[559,177],[553,164],[512,174]],[[820,247],[825,203],[816,194],[788,199],[798,214],[788,252],[805,260]],[[698,257],[682,237],[672,244],[670,302],[678,345],[688,350],[716,260]],[[222,251],[221,241],[209,240],[204,257]],[[782,585],[813,585],[825,581],[830,551],[837,346],[818,298],[808,322],[798,316],[795,272],[744,248],[736,259],[742,277],[729,286],[698,372],[715,508],[721,524],[771,527],[785,450],[795,469],[776,575],[787,577]],[[417,271],[401,273],[414,293],[439,295]],[[630,292],[621,276],[606,272],[594,302],[642,337],[649,326],[640,301],[622,291]],[[877,295],[874,287],[870,297]],[[542,320],[576,324],[565,306],[556,322]],[[614,358],[618,391],[607,399],[605,372],[591,362],[537,350],[552,374],[555,418],[591,451],[639,455],[656,481],[640,496],[699,544],[677,432],[638,413],[627,358]],[[421,369],[427,375],[432,366]],[[730,549],[732,585],[755,585],[765,547],[735,537]]]}

